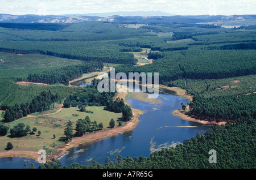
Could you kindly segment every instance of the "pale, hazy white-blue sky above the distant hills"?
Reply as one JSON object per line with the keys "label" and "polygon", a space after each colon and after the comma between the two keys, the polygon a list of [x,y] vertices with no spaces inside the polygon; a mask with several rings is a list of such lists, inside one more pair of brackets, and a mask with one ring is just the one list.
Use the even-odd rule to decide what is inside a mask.
{"label": "pale, hazy white-blue sky above the distant hills", "polygon": [[162,11],[174,15],[256,14],[256,0],[0,0],[0,14],[63,15]]}

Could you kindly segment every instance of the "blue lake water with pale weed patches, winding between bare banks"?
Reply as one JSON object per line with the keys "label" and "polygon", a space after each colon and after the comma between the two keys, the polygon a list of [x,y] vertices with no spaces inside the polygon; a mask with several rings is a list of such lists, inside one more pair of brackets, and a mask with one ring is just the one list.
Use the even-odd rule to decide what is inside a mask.
{"label": "blue lake water with pale weed patches, winding between bare banks", "polygon": [[[122,158],[147,157],[160,148],[170,148],[183,143],[185,139],[196,136],[198,132],[204,134],[211,127],[211,125],[184,121],[172,114],[172,110],[181,108],[181,102],[187,104],[188,99],[160,93],[158,100],[160,103],[155,104],[129,96],[127,103],[144,112],[139,117],[137,127],[130,132],[71,148],[58,158],[61,164],[63,166],[74,162],[90,164],[93,161],[104,164],[107,157],[113,161],[117,155],[121,155]],[[0,168],[22,168],[24,163],[28,166],[31,163],[36,167],[39,166],[34,160],[27,158],[0,158]]]}

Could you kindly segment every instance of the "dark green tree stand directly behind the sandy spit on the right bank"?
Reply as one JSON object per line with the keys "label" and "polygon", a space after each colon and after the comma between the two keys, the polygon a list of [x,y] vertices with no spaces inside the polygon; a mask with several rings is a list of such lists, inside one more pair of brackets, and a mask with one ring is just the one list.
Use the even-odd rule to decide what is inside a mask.
{"label": "dark green tree stand directly behind the sandy spit on the right bank", "polygon": [[193,96],[189,102],[191,114],[197,117],[207,117],[222,120],[237,120],[239,118],[256,118],[256,94],[216,96],[205,98]]}

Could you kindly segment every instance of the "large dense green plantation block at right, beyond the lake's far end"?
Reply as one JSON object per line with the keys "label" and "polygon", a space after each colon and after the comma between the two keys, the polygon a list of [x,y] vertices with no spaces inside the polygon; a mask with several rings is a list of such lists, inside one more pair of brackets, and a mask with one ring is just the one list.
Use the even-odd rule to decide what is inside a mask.
{"label": "large dense green plantation block at right, beyond the lake's far end", "polygon": [[[144,66],[121,65],[115,73],[159,72],[159,83],[182,78],[222,79],[256,73],[254,50],[180,50],[152,53],[154,63]],[[243,59],[243,61],[241,61]],[[214,68],[212,68],[214,67]]]}

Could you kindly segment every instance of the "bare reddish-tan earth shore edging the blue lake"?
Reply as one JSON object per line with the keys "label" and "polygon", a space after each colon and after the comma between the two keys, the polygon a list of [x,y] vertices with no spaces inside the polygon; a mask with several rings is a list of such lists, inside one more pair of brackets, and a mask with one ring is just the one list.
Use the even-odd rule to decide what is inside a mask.
{"label": "bare reddish-tan earth shore edging the blue lake", "polygon": [[[192,95],[188,95],[186,93],[186,91],[184,89],[181,89],[179,87],[167,87],[165,85],[160,84],[159,85],[159,91],[163,91],[160,89],[166,89],[171,91],[172,93],[174,93],[176,96],[181,96],[181,97],[185,97],[188,98],[189,100],[192,101],[193,96]],[[170,94],[172,94],[170,92]],[[126,103],[125,97],[127,95],[127,92],[119,92],[115,97],[119,97],[119,98],[123,98],[123,100]],[[63,144],[60,147],[57,147],[56,150],[58,151],[57,153],[53,153],[52,155],[48,155],[46,157],[46,160],[49,161],[52,158],[59,158],[61,156],[63,156],[65,154],[65,152],[67,152],[69,149],[74,148],[74,147],[78,147],[79,145],[82,144],[88,144],[88,143],[92,143],[96,140],[102,140],[104,138],[110,137],[110,136],[115,136],[118,134],[122,134],[125,132],[129,132],[132,131],[139,123],[139,116],[142,115],[144,112],[140,109],[134,109],[131,108],[133,111],[133,115],[134,117],[128,121],[124,126],[118,126],[115,127],[113,129],[109,129],[109,130],[104,130],[104,131],[98,131],[94,134],[88,134],[88,135],[84,135],[81,137],[77,137],[77,138],[73,138],[71,140],[71,142],[69,142],[68,144]],[[203,124],[214,124],[214,122],[209,122],[209,121],[203,121],[200,119],[195,119],[192,117],[189,117],[188,115],[185,115],[183,113],[180,112],[180,109],[175,110],[172,112],[172,114],[174,114],[177,117],[180,117],[181,119],[183,119],[184,121],[192,121],[192,122],[198,122],[198,123],[203,123]],[[222,125],[225,124],[226,122],[218,122],[218,125]],[[34,151],[13,151],[13,150],[9,150],[6,152],[0,152],[0,158],[4,158],[4,157],[26,157],[26,158],[31,158],[35,161],[38,161],[38,157],[40,155],[38,155],[38,152],[34,152]]]}

